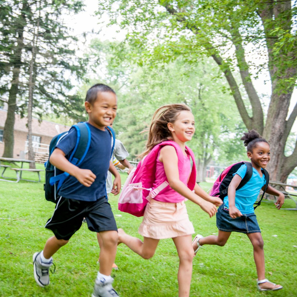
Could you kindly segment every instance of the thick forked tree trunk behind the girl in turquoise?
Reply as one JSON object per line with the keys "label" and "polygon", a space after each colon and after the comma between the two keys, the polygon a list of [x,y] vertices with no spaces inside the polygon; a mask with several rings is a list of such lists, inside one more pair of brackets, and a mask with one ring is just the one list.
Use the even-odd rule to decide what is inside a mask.
{"label": "thick forked tree trunk behind the girl in turquoise", "polygon": [[[163,2],[162,2],[163,3]],[[245,87],[251,106],[251,116],[247,112],[241,90],[233,76],[233,67],[227,60],[224,60],[216,46],[213,45],[202,30],[199,30],[197,23],[192,24],[190,18],[185,18],[183,10],[176,10],[173,5],[165,2],[162,4],[167,11],[176,15],[178,22],[184,23],[185,27],[191,30],[203,40],[203,47],[213,57],[215,62],[224,73],[229,84],[232,95],[237,104],[239,113],[248,130],[255,129],[269,142],[271,148],[271,160],[268,164],[271,180],[286,182],[290,172],[297,166],[297,142],[293,154],[289,157],[284,155],[285,145],[291,128],[297,117],[297,104],[294,111],[287,120],[290,100],[296,83],[297,67],[297,42],[296,39],[288,42],[288,47],[283,43],[283,35],[290,35],[292,25],[292,3],[291,1],[255,1],[256,13],[262,21],[263,33],[268,51],[267,67],[270,73],[272,92],[264,127],[263,110],[255,88],[250,80],[249,65],[246,61],[244,43],[242,41],[241,30],[238,19],[232,21],[230,13],[230,24],[225,30],[230,31],[231,41],[235,47],[235,58],[240,69],[243,85]],[[234,4],[235,6],[238,4]],[[190,7],[191,10],[193,7]],[[226,16],[228,14],[226,13]],[[226,24],[225,24],[226,26]],[[227,29],[226,29],[227,28]],[[228,36],[227,36],[228,38]]]}

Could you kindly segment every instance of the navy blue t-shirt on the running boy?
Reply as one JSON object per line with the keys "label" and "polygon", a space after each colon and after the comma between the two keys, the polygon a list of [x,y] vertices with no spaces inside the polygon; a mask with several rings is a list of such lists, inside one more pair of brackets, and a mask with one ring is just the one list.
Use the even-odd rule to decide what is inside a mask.
{"label": "navy blue t-shirt on the running boy", "polygon": [[[96,175],[96,179],[91,187],[85,187],[75,177],[68,176],[58,192],[58,195],[64,198],[96,201],[106,193],[105,181],[111,154],[111,135],[107,129],[102,131],[89,123],[87,125],[91,129],[91,144],[79,168],[90,169]],[[61,149],[66,156],[70,155],[75,147],[76,138],[76,129],[72,128],[56,148]]]}

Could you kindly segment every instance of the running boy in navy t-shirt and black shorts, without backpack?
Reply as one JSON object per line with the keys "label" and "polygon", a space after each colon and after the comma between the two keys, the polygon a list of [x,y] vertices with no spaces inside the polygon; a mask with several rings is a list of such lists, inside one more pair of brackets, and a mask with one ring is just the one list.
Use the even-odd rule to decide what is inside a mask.
{"label": "running boy in navy t-shirt and black shorts, without backpack", "polygon": [[[71,236],[80,229],[85,217],[91,231],[100,234],[100,269],[95,282],[93,297],[115,297],[110,276],[115,259],[118,234],[110,204],[105,195],[105,180],[108,169],[115,176],[112,189],[118,194],[121,188],[120,175],[110,162],[111,135],[106,126],[114,120],[117,110],[115,92],[103,84],[94,85],[87,92],[85,108],[89,115],[87,125],[91,129],[91,145],[79,167],[71,164],[66,156],[76,144],[76,131],[71,129],[56,146],[49,161],[70,176],[61,186],[60,196],[46,228],[50,237],[41,252],[33,255],[34,277],[41,287],[49,285],[49,267],[52,255],[66,245]],[[102,260],[101,260],[102,259]]]}

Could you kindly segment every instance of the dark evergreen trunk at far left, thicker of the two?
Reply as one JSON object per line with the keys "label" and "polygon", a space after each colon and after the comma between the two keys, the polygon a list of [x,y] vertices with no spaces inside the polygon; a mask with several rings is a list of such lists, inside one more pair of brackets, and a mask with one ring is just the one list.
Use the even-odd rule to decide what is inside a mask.
{"label": "dark evergreen trunk at far left, thicker of the two", "polygon": [[15,110],[16,110],[16,97],[18,94],[19,87],[19,74],[20,67],[22,64],[21,54],[23,49],[23,34],[24,27],[26,25],[26,13],[27,13],[28,5],[27,1],[23,1],[21,14],[15,23],[16,27],[16,48],[11,55],[10,64],[13,66],[12,68],[12,81],[11,87],[8,95],[8,109],[7,109],[7,117],[4,124],[4,132],[3,132],[3,141],[4,141],[4,152],[3,157],[12,158],[13,157],[13,146],[14,146],[14,122],[15,122]]}

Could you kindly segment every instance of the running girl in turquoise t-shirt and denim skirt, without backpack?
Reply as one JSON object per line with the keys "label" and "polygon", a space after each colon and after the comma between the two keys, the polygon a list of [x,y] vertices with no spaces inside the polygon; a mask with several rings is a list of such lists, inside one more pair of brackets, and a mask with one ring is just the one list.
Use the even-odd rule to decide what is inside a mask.
{"label": "running girl in turquoise t-shirt and denim skirt, without backpack", "polygon": [[[216,215],[217,227],[219,229],[218,236],[210,235],[203,238],[202,235],[198,234],[193,242],[193,248],[196,253],[199,247],[203,245],[223,247],[233,231],[247,234],[253,246],[254,261],[258,275],[258,290],[276,291],[283,287],[271,283],[265,278],[264,243],[253,208],[260,190],[264,189],[266,184],[266,178],[261,169],[266,168],[270,160],[270,146],[255,130],[245,133],[241,140],[244,141],[244,145],[247,147],[247,156],[253,167],[252,177],[245,186],[236,190],[241,180],[245,177],[247,165],[242,165],[233,174],[234,177],[228,188],[228,196],[224,198],[224,204],[219,207]],[[275,205],[277,209],[280,209],[284,204],[284,194],[271,186],[268,186],[266,193],[278,196]]]}

